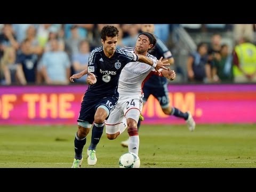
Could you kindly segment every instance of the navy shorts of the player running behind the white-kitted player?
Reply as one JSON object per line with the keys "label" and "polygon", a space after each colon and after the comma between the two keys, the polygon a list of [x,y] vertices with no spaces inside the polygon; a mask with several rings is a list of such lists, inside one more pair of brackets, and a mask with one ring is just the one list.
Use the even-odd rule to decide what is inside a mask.
{"label": "navy shorts of the player running behind the white-kitted player", "polygon": [[144,102],[146,102],[150,94],[152,94],[159,101],[162,108],[166,108],[167,106],[169,106],[169,91],[167,89],[167,84],[164,84],[163,86],[159,87],[144,86],[143,93]]}

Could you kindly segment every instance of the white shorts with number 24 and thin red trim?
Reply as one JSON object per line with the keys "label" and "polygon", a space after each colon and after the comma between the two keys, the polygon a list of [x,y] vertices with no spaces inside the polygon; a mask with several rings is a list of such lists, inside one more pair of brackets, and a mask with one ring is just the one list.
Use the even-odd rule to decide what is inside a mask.
{"label": "white shorts with number 24 and thin red trim", "polygon": [[137,123],[143,106],[143,94],[131,97],[119,97],[117,105],[111,111],[108,119],[105,121],[106,133],[115,134],[119,131],[119,124],[124,118],[132,118]]}

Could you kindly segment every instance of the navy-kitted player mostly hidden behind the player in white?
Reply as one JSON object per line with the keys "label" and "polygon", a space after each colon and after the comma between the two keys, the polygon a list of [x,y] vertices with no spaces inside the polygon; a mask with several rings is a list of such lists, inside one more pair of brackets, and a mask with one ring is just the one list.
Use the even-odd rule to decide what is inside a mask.
{"label": "navy-kitted player mostly hidden behind the player in white", "polygon": [[[141,30],[144,32],[154,33],[154,24],[141,24]],[[161,41],[161,39],[157,38],[156,45],[154,49],[149,52],[151,55],[154,55],[156,58],[163,57],[164,59],[168,59],[168,62],[172,65],[174,63],[174,59],[172,57],[171,51],[166,47],[166,45]],[[144,84],[143,92],[144,98],[143,103],[146,103],[150,94],[152,94],[160,103],[161,108],[166,115],[174,115],[179,118],[183,118],[190,131],[195,130],[195,121],[189,111],[183,113],[176,107],[170,106],[169,102],[169,92],[167,89],[167,79],[165,77],[152,75]],[[140,127],[140,121],[138,123],[138,129]],[[128,147],[128,140],[122,141],[121,145],[123,147]]]}

